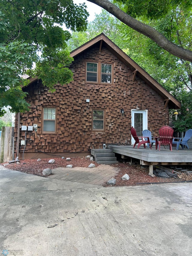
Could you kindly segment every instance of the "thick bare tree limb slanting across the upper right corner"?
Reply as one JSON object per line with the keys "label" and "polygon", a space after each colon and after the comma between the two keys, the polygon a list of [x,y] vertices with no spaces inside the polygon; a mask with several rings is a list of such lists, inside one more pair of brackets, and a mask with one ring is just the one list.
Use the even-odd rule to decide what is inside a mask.
{"label": "thick bare tree limb slanting across the upper right corner", "polygon": [[94,3],[110,14],[113,14],[116,18],[122,21],[124,24],[130,28],[136,30],[137,32],[147,36],[152,39],[156,44],[162,47],[167,52],[173,54],[176,57],[192,62],[192,51],[179,47],[178,45],[172,43],[167,38],[165,38],[156,29],[134,19],[130,15],[126,14],[116,5],[112,4],[108,0],[87,0],[88,2]]}

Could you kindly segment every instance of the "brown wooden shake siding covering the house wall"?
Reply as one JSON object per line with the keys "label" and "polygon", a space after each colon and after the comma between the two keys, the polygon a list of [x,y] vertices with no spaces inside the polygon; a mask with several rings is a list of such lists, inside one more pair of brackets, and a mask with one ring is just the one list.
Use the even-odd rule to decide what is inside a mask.
{"label": "brown wooden shake siding covering the house wall", "polygon": [[[86,82],[86,63],[111,64],[111,83]],[[133,70],[114,55],[105,45],[96,43],[74,57],[70,65],[73,81],[55,86],[50,93],[41,80],[23,88],[28,92],[30,111],[20,114],[21,125],[38,124],[37,131],[27,131],[25,153],[45,152],[59,155],[64,152],[88,152],[103,148],[103,144],[131,145],[131,109],[148,110],[148,129],[153,136],[159,128],[169,124],[168,105],[164,109],[164,98]],[[99,68],[98,68],[99,70]],[[133,81],[134,80],[134,81]],[[89,102],[87,102],[87,99]],[[43,132],[43,108],[56,108],[55,131]],[[122,116],[121,109],[125,113]],[[103,110],[103,129],[93,130],[93,110]],[[101,120],[101,122],[102,122]],[[17,142],[15,121],[15,145]],[[25,140],[25,131],[19,134]],[[20,146],[23,152],[24,146]],[[16,150],[16,146],[15,146]],[[37,157],[38,158],[38,157]]]}

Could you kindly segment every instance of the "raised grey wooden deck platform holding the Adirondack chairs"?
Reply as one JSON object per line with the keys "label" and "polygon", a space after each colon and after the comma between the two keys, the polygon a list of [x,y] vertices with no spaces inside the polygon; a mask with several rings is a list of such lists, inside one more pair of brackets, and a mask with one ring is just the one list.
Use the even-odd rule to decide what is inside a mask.
{"label": "raised grey wooden deck platform holding the Adirondack chairs", "polygon": [[153,176],[153,165],[192,165],[192,149],[178,149],[172,148],[170,151],[169,146],[161,146],[161,150],[156,150],[155,146],[152,149],[143,145],[137,149],[133,146],[116,146],[108,145],[108,149],[112,149],[114,153],[122,155],[122,158],[128,156],[140,160],[140,164],[149,165],[149,175]]}

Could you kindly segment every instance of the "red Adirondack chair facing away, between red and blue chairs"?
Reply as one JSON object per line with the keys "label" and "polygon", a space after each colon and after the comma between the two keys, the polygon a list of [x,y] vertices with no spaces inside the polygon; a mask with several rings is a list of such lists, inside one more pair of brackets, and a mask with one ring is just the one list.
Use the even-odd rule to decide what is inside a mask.
{"label": "red Adirondack chair facing away, between red and blue chairs", "polygon": [[160,146],[168,146],[170,147],[170,150],[172,151],[172,141],[173,141],[173,128],[170,126],[163,126],[159,129],[159,137],[155,137],[155,147],[157,149],[159,145],[159,150]]}

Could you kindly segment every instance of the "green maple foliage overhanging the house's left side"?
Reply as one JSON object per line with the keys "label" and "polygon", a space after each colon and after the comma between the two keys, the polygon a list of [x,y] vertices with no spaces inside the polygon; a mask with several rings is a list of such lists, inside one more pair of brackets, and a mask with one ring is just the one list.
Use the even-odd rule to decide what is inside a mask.
{"label": "green maple foliage overhanging the house's left side", "polygon": [[[69,70],[72,58],[66,41],[72,31],[86,29],[88,12],[85,4],[72,0],[1,0],[0,2],[0,116],[4,106],[12,112],[25,111],[28,104],[21,85],[28,74],[38,75],[44,85],[72,79]],[[35,68],[32,69],[35,62]]]}

